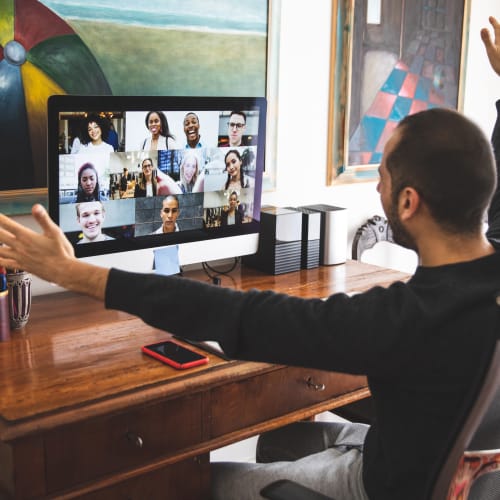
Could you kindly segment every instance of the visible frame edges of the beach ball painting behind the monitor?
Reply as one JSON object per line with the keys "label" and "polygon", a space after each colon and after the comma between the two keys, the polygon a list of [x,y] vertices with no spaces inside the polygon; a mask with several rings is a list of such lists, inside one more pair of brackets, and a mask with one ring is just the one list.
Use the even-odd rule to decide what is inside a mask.
{"label": "visible frame edges of the beach ball painting behind the monitor", "polygon": [[[276,149],[277,149],[277,95],[279,75],[279,30],[281,18],[281,0],[267,1],[267,45],[265,97],[267,99],[267,140],[266,170],[264,172],[263,190],[276,189]],[[18,216],[31,213],[35,203],[48,206],[47,187],[28,189],[0,190],[0,212],[5,215]]]}

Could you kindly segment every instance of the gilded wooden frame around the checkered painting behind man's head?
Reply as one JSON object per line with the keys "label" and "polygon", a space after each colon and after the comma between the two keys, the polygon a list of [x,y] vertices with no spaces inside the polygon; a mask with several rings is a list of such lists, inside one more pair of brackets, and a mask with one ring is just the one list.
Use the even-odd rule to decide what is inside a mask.
{"label": "gilded wooden frame around the checkered painting behind man's head", "polygon": [[[383,1],[383,0],[382,0]],[[444,0],[446,2],[446,0]],[[454,109],[463,111],[466,54],[470,22],[471,0],[463,1],[463,21],[460,49],[457,51],[458,71],[456,103]],[[424,1],[422,2],[424,3]],[[378,179],[377,163],[350,164],[351,100],[353,82],[353,39],[355,23],[359,22],[367,0],[332,0],[330,82],[327,138],[327,185],[375,181]],[[402,4],[405,4],[403,0]],[[404,6],[402,7],[404,8]],[[356,17],[358,16],[358,17]],[[409,114],[409,113],[408,113]]]}

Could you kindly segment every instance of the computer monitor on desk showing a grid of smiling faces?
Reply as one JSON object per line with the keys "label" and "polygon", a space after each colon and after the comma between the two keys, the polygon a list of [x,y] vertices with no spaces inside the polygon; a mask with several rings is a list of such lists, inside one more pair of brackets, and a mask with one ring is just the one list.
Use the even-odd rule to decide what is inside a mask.
{"label": "computer monitor on desk showing a grid of smiling faces", "polygon": [[202,242],[258,235],[265,125],[259,97],[51,96],[50,215],[77,257],[199,243],[189,260],[208,260]]}

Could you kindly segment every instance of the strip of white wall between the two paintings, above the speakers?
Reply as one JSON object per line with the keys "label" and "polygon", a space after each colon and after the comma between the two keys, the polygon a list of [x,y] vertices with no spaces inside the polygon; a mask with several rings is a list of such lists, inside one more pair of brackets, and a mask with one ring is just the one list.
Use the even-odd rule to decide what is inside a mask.
{"label": "strip of white wall between the two paintings, above the speakers", "polygon": [[263,199],[348,207],[353,233],[382,209],[373,182],[326,186],[331,1],[281,4],[277,189]]}

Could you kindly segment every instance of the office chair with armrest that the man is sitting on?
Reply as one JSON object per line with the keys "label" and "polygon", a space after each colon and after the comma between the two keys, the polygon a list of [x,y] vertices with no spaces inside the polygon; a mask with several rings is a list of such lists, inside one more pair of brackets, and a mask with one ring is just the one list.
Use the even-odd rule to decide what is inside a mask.
{"label": "office chair with armrest that the man is sitting on", "polygon": [[[497,304],[500,306],[500,296],[497,297]],[[497,340],[479,394],[472,407],[464,412],[463,424],[459,426],[455,441],[451,445],[444,463],[437,471],[436,478],[430,483],[431,494],[428,498],[431,500],[467,500],[472,485],[478,478],[489,472],[500,470],[500,449],[467,450],[470,444],[482,443],[491,446],[492,441],[494,444],[498,443],[498,438],[500,438],[498,430],[500,411],[497,411],[500,409],[499,389],[500,340]],[[486,483],[484,489],[492,491],[494,496],[485,496],[484,493],[481,493],[481,496],[477,497],[478,500],[499,498],[499,478],[497,475],[491,475],[491,478],[494,478],[493,482]],[[489,480],[490,477],[483,479]],[[280,490],[285,489],[285,496],[281,496]],[[275,481],[267,485],[261,491],[261,495],[269,500],[328,498],[324,495],[318,496],[319,493],[289,480]]]}

